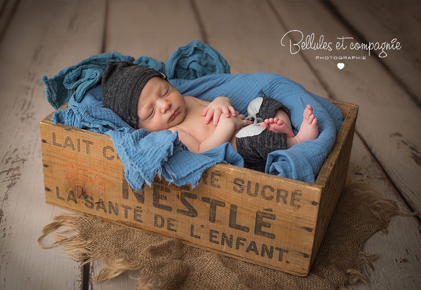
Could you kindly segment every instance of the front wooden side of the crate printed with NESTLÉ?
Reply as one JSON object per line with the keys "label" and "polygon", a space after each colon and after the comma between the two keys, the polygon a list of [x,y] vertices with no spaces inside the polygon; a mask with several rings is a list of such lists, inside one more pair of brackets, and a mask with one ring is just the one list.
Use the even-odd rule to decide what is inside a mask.
{"label": "front wooden side of the crate printed with NESTL\u00c9", "polygon": [[[272,244],[268,243],[270,239],[259,239],[253,234],[253,230],[261,231],[261,224],[255,224],[255,216],[270,215],[271,219],[276,216],[277,221],[283,221],[277,225],[272,223],[270,232],[270,235],[277,237],[274,245],[275,249],[280,251],[277,260],[291,263],[294,267],[290,271],[295,274],[303,274],[305,269],[300,268],[303,264],[309,267],[308,257],[311,251],[309,245],[312,244],[317,215],[312,207],[317,210],[320,197],[318,196],[320,190],[317,188],[314,190],[305,184],[297,186],[288,181],[285,184],[284,180],[279,184],[276,179],[269,176],[263,174],[255,176],[248,172],[249,170],[221,164],[207,170],[203,175],[203,182],[196,189],[191,190],[189,186],[176,188],[166,182],[160,184],[159,180],[155,180],[152,189],[146,187],[143,192],[132,192],[127,183],[122,181],[123,164],[118,162],[116,155],[112,153],[114,149],[109,137],[64,126],[53,126],[45,121],[41,123],[41,132],[48,203],[97,215],[104,220],[142,229],[151,234],[176,237],[188,245],[250,262],[254,261],[252,259],[254,255],[250,255],[248,253],[250,250],[247,251],[246,248],[240,250],[239,245],[243,245],[242,241],[253,240],[256,242],[253,246],[259,249],[263,244],[272,247]],[[63,163],[63,160],[66,162]],[[244,182],[249,183],[248,194],[245,193]],[[265,185],[272,192],[278,191],[277,202],[274,202],[274,196],[270,193],[262,193],[265,200],[258,194],[260,189],[255,192],[259,184]],[[280,196],[285,195],[285,192],[299,194],[300,204],[294,203],[292,195],[292,200],[287,200],[285,197],[287,205],[277,209],[277,204],[282,205]],[[238,202],[239,194],[242,196],[240,202]],[[313,200],[314,205],[312,205]],[[299,215],[297,211],[299,207],[302,212],[309,213],[310,216]],[[264,215],[263,210],[268,213]],[[180,214],[181,211],[184,215]],[[296,228],[290,226],[292,221],[296,223]],[[229,241],[225,243],[222,241],[223,233],[226,233],[227,237],[235,236],[234,247]],[[281,233],[288,235],[279,240]],[[305,242],[302,244],[301,241],[295,241],[290,237],[300,237]],[[237,246],[235,246],[236,239]],[[221,240],[221,244],[218,240]],[[212,249],[211,243],[219,245]],[[286,251],[290,253],[288,260],[285,260],[285,257],[282,260],[282,253]],[[273,267],[268,257],[263,258],[260,263]],[[277,264],[276,261],[273,263]]]}

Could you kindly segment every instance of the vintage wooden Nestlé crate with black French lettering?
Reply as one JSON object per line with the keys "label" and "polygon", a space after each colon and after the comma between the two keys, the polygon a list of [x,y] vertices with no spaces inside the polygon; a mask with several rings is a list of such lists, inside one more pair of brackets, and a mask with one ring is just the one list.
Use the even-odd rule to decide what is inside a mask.
{"label": "vintage wooden Nestl\u00e9 crate with black French lettering", "polygon": [[330,101],[345,120],[314,184],[218,163],[195,189],[156,176],[142,192],[125,180],[109,136],[54,124],[52,113],[40,122],[45,201],[306,276],[344,187],[358,112]]}

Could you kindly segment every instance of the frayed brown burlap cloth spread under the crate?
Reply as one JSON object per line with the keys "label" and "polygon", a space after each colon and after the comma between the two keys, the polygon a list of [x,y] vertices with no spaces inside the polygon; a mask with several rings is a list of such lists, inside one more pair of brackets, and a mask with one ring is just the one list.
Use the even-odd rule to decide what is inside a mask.
{"label": "frayed brown burlap cloth spread under the crate", "polygon": [[385,227],[393,215],[412,214],[397,210],[394,202],[365,184],[347,184],[307,277],[256,266],[183,245],[177,239],[156,237],[78,214],[54,218],[56,221],[44,227],[38,241],[60,226],[68,226],[67,232],[76,230],[78,234],[65,237],[66,231],[61,231],[54,238],[71,258],[85,263],[104,258],[106,268],[96,277],[99,282],[127,270],[139,270],[138,290],[334,290],[357,281],[367,282],[366,268],[372,267],[376,255],[363,253],[362,246],[374,232],[387,233]]}

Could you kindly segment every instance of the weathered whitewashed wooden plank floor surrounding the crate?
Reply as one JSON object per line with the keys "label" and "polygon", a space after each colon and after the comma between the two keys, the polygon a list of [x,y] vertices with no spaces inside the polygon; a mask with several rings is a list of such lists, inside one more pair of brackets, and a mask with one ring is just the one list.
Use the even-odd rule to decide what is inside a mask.
{"label": "weathered whitewashed wooden plank floor surrounding the crate", "polygon": [[[402,4],[405,3],[405,4]],[[407,2],[277,1],[1,1],[0,2],[0,285],[2,289],[133,289],[130,274],[107,284],[60,247],[43,250],[41,229],[64,213],[44,202],[39,121],[53,111],[43,74],[88,56],[118,51],[166,61],[179,46],[201,40],[216,48],[232,73],[272,72],[313,93],[360,106],[348,180],[374,186],[404,211],[421,212],[421,4]],[[403,5],[403,6],[400,6]],[[291,54],[290,30],[333,51]],[[401,43],[400,50],[336,51],[336,37]],[[367,56],[320,60],[316,56]],[[336,67],[338,62],[344,69]],[[378,253],[370,285],[349,289],[419,289],[421,227],[393,217],[389,234],[374,234],[365,253]]]}

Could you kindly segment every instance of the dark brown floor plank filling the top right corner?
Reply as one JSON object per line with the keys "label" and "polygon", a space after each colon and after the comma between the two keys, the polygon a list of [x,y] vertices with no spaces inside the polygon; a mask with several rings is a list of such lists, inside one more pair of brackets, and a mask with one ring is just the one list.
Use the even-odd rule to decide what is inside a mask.
{"label": "dark brown floor plank filling the top right corner", "polygon": [[[413,32],[421,28],[419,1],[336,1],[332,2],[339,16],[358,31],[367,42],[384,43],[396,38],[400,50],[386,51],[380,58],[402,86],[421,104],[421,39]],[[403,16],[403,17],[400,17]],[[377,52],[377,54],[380,51]],[[384,55],[384,54],[383,54]]]}

